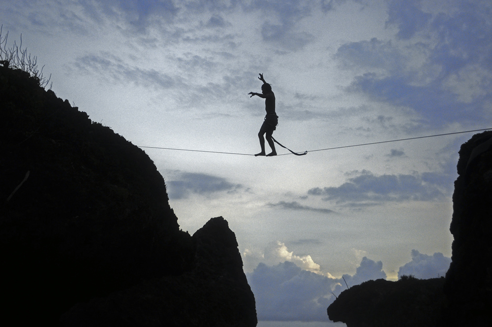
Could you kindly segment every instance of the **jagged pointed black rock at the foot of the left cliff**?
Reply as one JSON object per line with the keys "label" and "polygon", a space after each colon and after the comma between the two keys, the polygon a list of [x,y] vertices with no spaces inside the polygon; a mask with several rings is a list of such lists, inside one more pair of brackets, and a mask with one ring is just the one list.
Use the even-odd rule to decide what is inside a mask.
{"label": "jagged pointed black rock at the foot of the left cliff", "polygon": [[62,326],[256,326],[236,236],[222,217],[196,231],[195,267],[78,304]]}

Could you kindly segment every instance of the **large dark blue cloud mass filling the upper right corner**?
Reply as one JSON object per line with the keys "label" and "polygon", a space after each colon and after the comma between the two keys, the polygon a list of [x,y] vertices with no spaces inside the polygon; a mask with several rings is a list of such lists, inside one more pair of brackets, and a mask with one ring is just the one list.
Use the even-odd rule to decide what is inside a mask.
{"label": "large dark blue cloud mass filling the upper right corner", "polygon": [[[388,26],[396,41],[376,38],[341,45],[335,59],[363,68],[346,90],[401,110],[421,124],[476,124],[492,99],[490,1],[452,1],[425,12],[422,0],[392,0]],[[431,6],[432,7],[432,6]]]}

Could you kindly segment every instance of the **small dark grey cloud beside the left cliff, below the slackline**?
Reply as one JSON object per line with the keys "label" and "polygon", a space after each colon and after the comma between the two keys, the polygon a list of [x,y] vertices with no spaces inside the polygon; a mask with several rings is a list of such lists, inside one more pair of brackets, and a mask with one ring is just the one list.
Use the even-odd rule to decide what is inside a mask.
{"label": "small dark grey cloud beside the left cliff, below the slackline", "polygon": [[202,173],[181,173],[178,178],[166,181],[170,199],[187,198],[190,194],[233,193],[243,187],[241,184],[232,184],[225,178]]}

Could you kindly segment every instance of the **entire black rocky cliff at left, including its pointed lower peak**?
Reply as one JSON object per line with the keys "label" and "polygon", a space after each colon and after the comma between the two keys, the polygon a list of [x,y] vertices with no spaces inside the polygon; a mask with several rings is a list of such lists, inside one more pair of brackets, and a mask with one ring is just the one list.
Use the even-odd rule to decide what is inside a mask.
{"label": "entire black rocky cliff at left, including its pointed lower peak", "polygon": [[144,151],[1,65],[0,114],[1,325],[256,326],[227,222],[179,229]]}

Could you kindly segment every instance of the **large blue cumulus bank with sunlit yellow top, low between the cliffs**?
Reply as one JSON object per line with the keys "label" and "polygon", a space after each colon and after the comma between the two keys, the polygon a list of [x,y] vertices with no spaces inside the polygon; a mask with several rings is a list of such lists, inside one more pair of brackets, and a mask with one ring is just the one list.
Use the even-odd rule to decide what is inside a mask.
{"label": "large blue cumulus bank with sunlit yellow top, low between the cliffs", "polygon": [[[260,262],[252,272],[246,273],[256,300],[258,320],[328,321],[326,308],[335,300],[333,294],[346,289],[343,279],[303,269],[299,266],[302,262],[292,260],[295,256],[283,243],[272,245],[273,255],[287,260],[272,265]],[[343,278],[349,286],[354,286],[370,279],[386,278],[386,274],[382,262],[364,257],[355,275],[345,274]]]}

